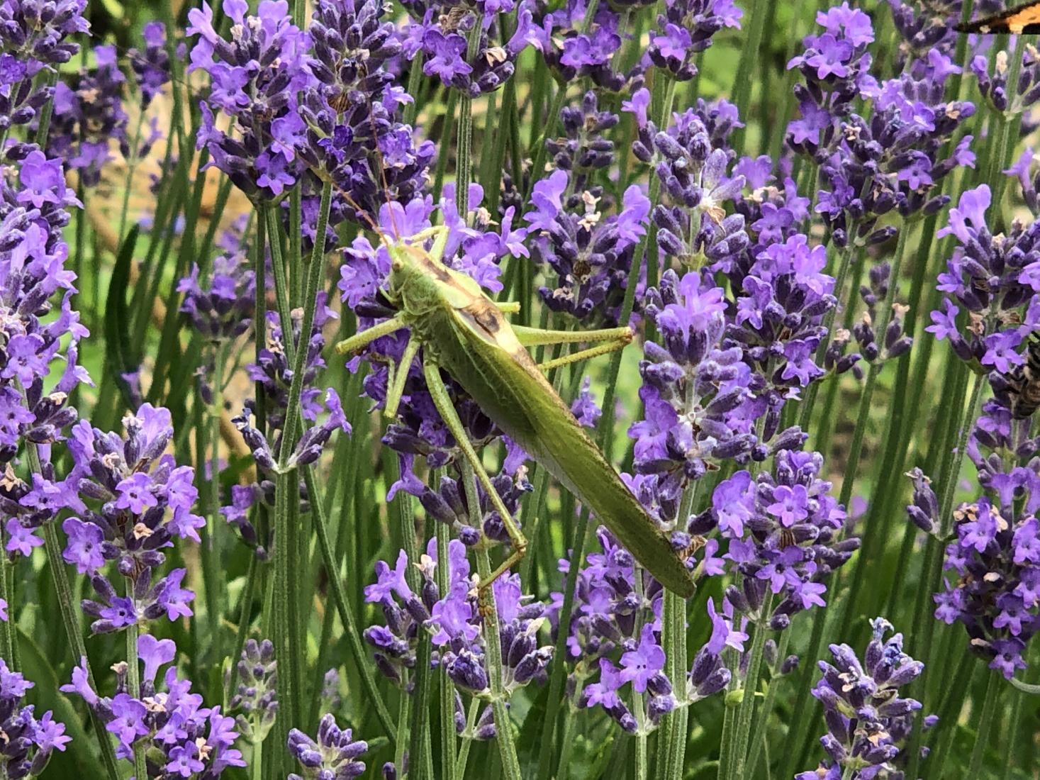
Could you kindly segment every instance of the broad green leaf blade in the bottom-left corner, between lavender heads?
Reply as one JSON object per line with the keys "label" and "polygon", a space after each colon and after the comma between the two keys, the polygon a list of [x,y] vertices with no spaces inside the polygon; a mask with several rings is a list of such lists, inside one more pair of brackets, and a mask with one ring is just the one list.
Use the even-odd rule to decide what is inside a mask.
{"label": "broad green leaf blade in the bottom-left corner, between lavender heads", "polygon": [[18,646],[22,657],[22,673],[34,684],[27,698],[35,705],[37,717],[53,710],[54,720],[66,726],[72,742],[63,753],[54,751],[47,765],[47,777],[75,777],[77,780],[105,780],[101,771],[101,755],[94,739],[87,736],[79,713],[64,694],[58,691],[58,676],[44,656],[40,646],[21,629]]}

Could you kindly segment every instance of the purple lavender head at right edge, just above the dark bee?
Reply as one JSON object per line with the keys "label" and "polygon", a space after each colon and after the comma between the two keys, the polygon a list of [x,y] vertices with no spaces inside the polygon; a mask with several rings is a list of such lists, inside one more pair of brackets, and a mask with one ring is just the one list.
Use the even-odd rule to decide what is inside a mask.
{"label": "purple lavender head at right edge, just above the dark bee", "polygon": [[925,330],[948,339],[961,360],[1007,374],[1024,365],[1026,337],[1040,327],[1040,222],[1015,219],[993,235],[990,205],[990,188],[982,184],[950,209],[950,224],[937,235],[953,235],[957,244],[939,275],[942,309]]}

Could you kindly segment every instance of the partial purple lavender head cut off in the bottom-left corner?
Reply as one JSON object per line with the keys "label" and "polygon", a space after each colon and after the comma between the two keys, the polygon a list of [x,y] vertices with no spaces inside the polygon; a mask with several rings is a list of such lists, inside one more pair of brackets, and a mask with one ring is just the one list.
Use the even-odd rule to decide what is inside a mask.
{"label": "partial purple lavender head cut off in the bottom-left corner", "polygon": [[40,777],[47,769],[51,754],[64,752],[72,742],[66,736],[64,724],[55,721],[51,710],[37,719],[34,707],[25,703],[25,694],[32,682],[11,671],[0,658],[0,776],[7,780]]}

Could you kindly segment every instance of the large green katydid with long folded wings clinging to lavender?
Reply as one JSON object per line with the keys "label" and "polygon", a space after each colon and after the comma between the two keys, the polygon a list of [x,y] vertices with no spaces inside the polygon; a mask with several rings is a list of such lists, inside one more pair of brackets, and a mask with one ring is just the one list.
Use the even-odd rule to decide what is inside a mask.
{"label": "large green katydid with long folded wings clinging to lavender", "polygon": [[[434,241],[427,252],[423,242],[430,238]],[[336,349],[340,354],[355,352],[380,336],[411,329],[400,365],[391,372],[385,411],[388,416],[396,415],[408,368],[421,348],[423,373],[437,411],[463,456],[472,464],[513,545],[512,554],[482,587],[523,557],[527,540],[469,442],[441,379],[440,367],[454,378],[506,436],[586,504],[661,584],[681,596],[692,595],[694,577],[682,554],[673,548],[668,535],[621,482],[542,373],[548,368],[620,349],[631,341],[631,329],[572,333],[510,326],[503,314],[519,311],[518,304],[492,301],[474,280],[441,262],[447,242],[446,227],[430,228],[396,243],[385,237],[383,240],[391,258],[390,277],[383,293],[397,313],[341,341]],[[578,342],[595,345],[542,365],[535,363],[525,348]]]}

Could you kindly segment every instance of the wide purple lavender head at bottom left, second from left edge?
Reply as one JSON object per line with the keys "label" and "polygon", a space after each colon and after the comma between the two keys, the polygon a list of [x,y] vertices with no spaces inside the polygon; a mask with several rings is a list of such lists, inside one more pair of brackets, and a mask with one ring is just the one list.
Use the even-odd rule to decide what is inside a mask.
{"label": "wide purple lavender head at bottom left, second from left edge", "polygon": [[157,682],[159,670],[177,654],[173,640],[156,640],[151,634],[137,639],[137,656],[144,664],[140,698],[127,693],[127,665],[115,671],[113,697],[101,696],[87,682],[85,658],[72,671],[72,682],[61,691],[76,694],[119,744],[115,756],[133,761],[133,749],[147,751],[149,765],[160,768],[162,778],[218,778],[229,766],[244,766],[241,753],[234,747],[238,732],[235,720],[207,707],[201,694],[191,693],[191,682],[177,676],[176,665],[168,666]]}

